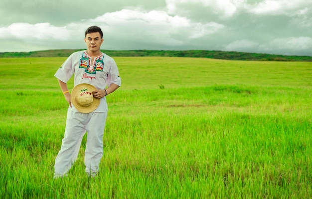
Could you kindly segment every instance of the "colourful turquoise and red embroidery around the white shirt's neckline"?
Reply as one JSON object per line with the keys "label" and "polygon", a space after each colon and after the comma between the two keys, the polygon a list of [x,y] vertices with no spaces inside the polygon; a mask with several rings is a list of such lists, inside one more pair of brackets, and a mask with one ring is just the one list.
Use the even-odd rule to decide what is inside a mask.
{"label": "colourful turquoise and red embroidery around the white shirt's neckline", "polygon": [[82,53],[82,57],[80,59],[79,68],[85,68],[85,72],[89,74],[96,74],[96,71],[103,72],[104,68],[104,62],[103,62],[104,56],[101,55],[97,58],[95,58],[94,65],[92,66],[90,63],[90,56],[87,53]]}

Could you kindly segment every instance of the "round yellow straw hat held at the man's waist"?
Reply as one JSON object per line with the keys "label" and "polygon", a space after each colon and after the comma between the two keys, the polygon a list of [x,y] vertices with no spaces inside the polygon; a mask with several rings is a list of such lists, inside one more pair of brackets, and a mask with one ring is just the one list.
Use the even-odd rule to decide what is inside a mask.
{"label": "round yellow straw hat held at the man's waist", "polygon": [[92,91],[97,90],[91,84],[78,84],[71,91],[71,102],[81,113],[90,113],[100,104],[100,99],[94,98]]}

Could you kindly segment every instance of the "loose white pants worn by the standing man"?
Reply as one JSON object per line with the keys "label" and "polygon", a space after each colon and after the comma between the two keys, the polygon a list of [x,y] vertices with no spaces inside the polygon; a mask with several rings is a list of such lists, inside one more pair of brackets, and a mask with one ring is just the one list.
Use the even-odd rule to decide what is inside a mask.
{"label": "loose white pants worn by the standing man", "polygon": [[61,150],[54,165],[54,177],[63,177],[78,157],[81,141],[86,131],[86,173],[98,173],[103,156],[103,135],[107,112],[80,113],[67,111],[67,120]]}

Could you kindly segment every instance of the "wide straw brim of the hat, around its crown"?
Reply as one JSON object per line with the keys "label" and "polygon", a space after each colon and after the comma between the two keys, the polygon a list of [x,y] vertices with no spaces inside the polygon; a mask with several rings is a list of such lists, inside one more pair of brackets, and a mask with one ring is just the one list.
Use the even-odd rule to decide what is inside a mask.
{"label": "wide straw brim of the hat, around its crown", "polygon": [[[71,102],[73,103],[74,107],[81,113],[91,113],[94,111],[100,104],[100,99],[93,98],[92,103],[89,106],[81,106],[79,103],[77,103],[77,96],[80,95],[81,90],[87,89],[89,92],[92,93],[92,91],[97,90],[96,87],[94,87],[91,84],[78,84],[76,85],[73,90],[71,91],[70,98]],[[93,95],[92,95],[93,96]]]}

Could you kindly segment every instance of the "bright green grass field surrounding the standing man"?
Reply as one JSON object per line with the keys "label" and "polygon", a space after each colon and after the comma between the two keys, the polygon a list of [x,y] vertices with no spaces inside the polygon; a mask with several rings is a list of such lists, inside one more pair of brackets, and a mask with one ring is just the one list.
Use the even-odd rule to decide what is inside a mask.
{"label": "bright green grass field surrounding the standing man", "polygon": [[53,180],[65,59],[0,58],[1,199],[312,198],[311,62],[116,57],[101,172]]}

